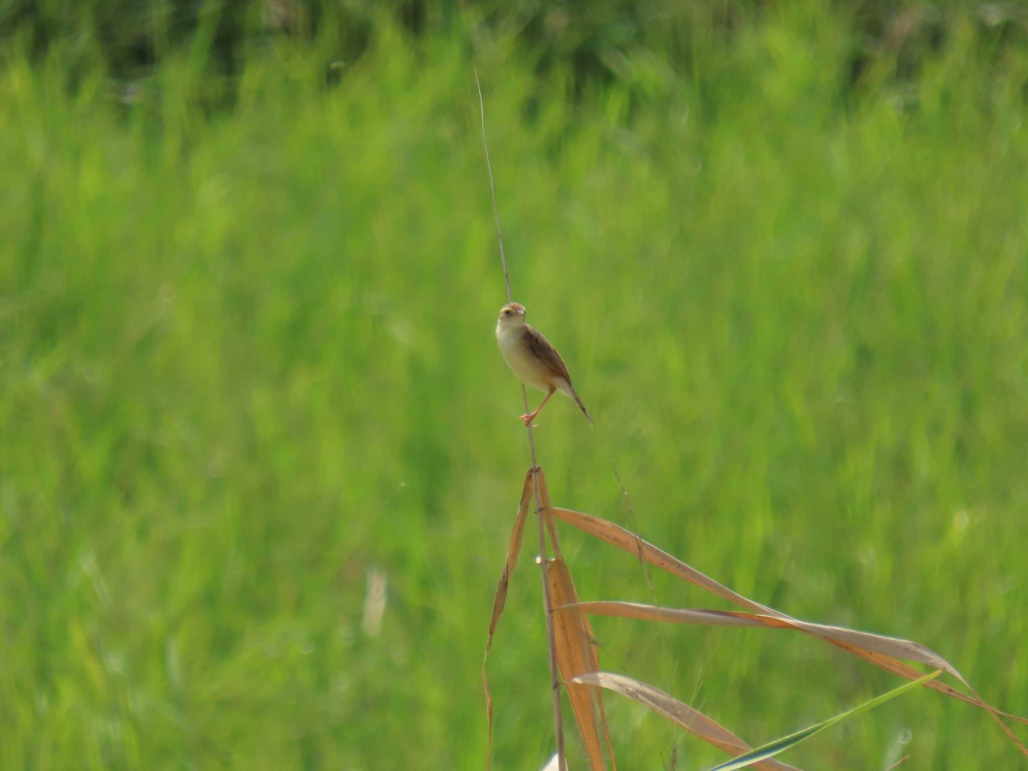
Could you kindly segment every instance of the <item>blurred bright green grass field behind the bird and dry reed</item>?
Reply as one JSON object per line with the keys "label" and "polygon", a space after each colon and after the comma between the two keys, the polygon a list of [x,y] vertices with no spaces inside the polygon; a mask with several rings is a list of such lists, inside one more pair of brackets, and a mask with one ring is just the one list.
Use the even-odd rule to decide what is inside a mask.
{"label": "blurred bright green grass field behind the bird and dry reed", "polygon": [[[328,33],[218,74],[201,25],[138,80],[5,40],[0,765],[483,767],[528,456],[476,66],[515,298],[597,421],[542,413],[555,503],[1028,713],[1028,48],[956,13],[855,77],[853,19],[783,3],[590,78],[474,9],[416,38],[369,12],[335,69]],[[531,543],[489,661],[501,769],[553,745]],[[562,545],[584,598],[650,601],[631,557]],[[751,743],[896,685],[798,635],[594,626],[607,668]],[[724,759],[607,703],[624,768]],[[1023,761],[927,692],[784,760],[896,751]]]}

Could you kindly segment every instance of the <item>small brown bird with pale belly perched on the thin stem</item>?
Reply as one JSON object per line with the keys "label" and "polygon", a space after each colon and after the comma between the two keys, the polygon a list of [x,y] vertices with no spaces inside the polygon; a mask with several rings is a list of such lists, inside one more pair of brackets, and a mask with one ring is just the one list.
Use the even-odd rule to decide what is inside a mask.
{"label": "small brown bird with pale belly perched on the thin stem", "polygon": [[573,399],[581,407],[582,414],[589,425],[592,425],[589,410],[572,388],[572,376],[567,374],[567,367],[564,366],[560,354],[539,330],[524,323],[524,305],[509,302],[500,308],[497,342],[500,343],[500,351],[514,376],[525,386],[533,386],[546,392],[546,398],[535,412],[521,415],[521,421],[525,426],[536,419],[539,410],[553,396],[554,391],[559,391],[568,399]]}

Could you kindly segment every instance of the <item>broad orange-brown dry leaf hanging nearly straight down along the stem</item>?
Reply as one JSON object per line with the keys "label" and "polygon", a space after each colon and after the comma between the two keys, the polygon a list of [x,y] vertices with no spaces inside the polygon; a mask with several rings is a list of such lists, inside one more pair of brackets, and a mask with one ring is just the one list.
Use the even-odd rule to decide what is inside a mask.
{"label": "broad orange-brown dry leaf hanging nearly straight down along the stem", "polygon": [[[577,674],[599,668],[599,657],[596,655],[596,642],[592,635],[592,628],[589,626],[586,615],[575,607],[578,602],[578,595],[575,592],[571,572],[564,561],[562,559],[552,560],[547,576],[550,579],[550,598],[554,609],[557,605],[571,605],[567,610],[554,610],[553,613],[553,636],[556,644],[557,665],[564,678],[567,698],[572,702],[575,721],[582,733],[589,763],[593,769],[605,769],[599,730],[596,725],[597,712],[602,708],[599,690],[591,686],[575,685],[571,682]],[[614,752],[611,747],[605,717],[601,717],[599,723],[607,739],[611,763],[617,768],[614,763]]]}

